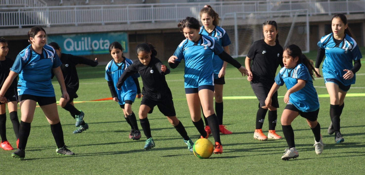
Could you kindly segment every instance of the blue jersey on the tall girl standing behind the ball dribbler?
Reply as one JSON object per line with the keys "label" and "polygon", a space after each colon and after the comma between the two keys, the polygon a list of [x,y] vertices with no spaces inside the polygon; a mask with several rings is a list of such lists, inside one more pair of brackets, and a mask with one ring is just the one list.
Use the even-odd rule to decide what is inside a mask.
{"label": "blue jersey on the tall girl standing behind the ball dribbler", "polygon": [[[202,26],[200,27],[199,34],[214,37],[216,39],[216,42],[218,42],[219,45],[222,47],[226,47],[229,44],[231,44],[231,40],[229,39],[227,32],[223,28],[220,28],[219,26],[215,26],[214,30],[210,33],[208,33],[208,31],[206,31],[205,28]],[[223,66],[223,60],[220,59],[217,55],[214,55],[213,57],[214,78],[216,79],[218,78],[218,74],[220,69],[222,69],[222,66]]]}

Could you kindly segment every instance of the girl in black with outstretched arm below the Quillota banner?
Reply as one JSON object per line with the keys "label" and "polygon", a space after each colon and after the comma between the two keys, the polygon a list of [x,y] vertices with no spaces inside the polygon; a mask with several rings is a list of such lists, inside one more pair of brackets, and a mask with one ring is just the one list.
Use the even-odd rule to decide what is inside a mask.
{"label": "girl in black with outstretched arm below the Quillota banner", "polygon": [[82,131],[89,129],[89,125],[83,120],[85,115],[84,112],[76,109],[73,103],[73,99],[78,97],[76,92],[79,85],[76,65],[84,64],[95,67],[98,65],[97,59],[95,58],[95,61],[92,61],[91,59],[87,59],[84,57],[61,53],[61,48],[55,42],[51,42],[48,45],[52,46],[57,52],[57,55],[59,55],[59,59],[62,62],[62,65],[60,67],[62,70],[62,74],[64,75],[66,90],[70,96],[70,100],[66,102],[65,97],[62,95],[59,99],[59,106],[70,112],[71,116],[76,119],[75,126],[77,128],[73,131],[73,133],[81,133]]}

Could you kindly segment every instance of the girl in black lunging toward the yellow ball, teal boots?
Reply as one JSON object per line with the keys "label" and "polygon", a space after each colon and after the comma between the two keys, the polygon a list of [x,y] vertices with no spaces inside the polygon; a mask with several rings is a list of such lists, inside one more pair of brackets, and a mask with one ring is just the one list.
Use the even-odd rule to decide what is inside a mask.
{"label": "girl in black lunging toward the yellow ball, teal boots", "polygon": [[193,141],[185,131],[184,125],[176,118],[172,94],[167,85],[165,75],[170,73],[162,62],[156,58],[157,51],[150,43],[141,43],[136,47],[136,54],[139,61],[135,61],[128,66],[123,74],[119,77],[117,88],[120,89],[124,81],[136,72],[139,72],[143,82],[142,101],[139,107],[139,121],[145,136],[147,137],[145,147],[143,149],[151,149],[155,147],[152,139],[150,123],[147,114],[152,113],[154,106],[164,114],[169,122],[175,127],[176,131],[184,138],[185,144],[188,145],[190,152],[193,152]]}

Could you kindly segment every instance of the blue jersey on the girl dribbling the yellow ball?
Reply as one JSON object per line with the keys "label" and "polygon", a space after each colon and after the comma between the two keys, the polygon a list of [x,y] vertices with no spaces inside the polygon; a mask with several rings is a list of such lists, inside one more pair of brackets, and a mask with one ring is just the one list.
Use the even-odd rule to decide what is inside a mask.
{"label": "blue jersey on the girl dribbling the yellow ball", "polygon": [[185,60],[184,87],[198,88],[202,85],[214,85],[213,54],[223,52],[213,37],[201,35],[197,42],[185,39],[176,48],[176,61]]}

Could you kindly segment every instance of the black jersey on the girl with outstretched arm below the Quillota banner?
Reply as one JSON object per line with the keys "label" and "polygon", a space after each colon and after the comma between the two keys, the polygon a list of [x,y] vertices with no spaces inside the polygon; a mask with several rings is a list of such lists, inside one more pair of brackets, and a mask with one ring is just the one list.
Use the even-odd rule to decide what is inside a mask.
{"label": "black jersey on the girl with outstretched arm below the Quillota banner", "polygon": [[87,59],[84,57],[79,57],[71,54],[61,53],[61,70],[64,75],[65,85],[67,88],[71,88],[76,92],[78,90],[78,75],[76,70],[77,64],[84,64],[95,67],[98,65],[97,61]]}

